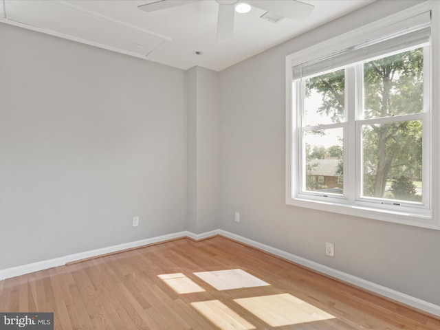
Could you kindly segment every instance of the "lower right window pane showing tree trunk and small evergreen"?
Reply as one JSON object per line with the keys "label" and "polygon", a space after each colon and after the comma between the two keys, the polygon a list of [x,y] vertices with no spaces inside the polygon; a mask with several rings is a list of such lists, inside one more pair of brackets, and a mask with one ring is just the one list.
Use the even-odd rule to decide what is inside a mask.
{"label": "lower right window pane showing tree trunk and small evergreen", "polygon": [[421,201],[421,120],[362,126],[362,194]]}

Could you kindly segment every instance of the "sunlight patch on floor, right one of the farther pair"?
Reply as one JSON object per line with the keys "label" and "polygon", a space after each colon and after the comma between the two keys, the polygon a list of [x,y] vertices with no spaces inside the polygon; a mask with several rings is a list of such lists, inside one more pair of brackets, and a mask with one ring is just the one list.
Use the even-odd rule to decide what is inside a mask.
{"label": "sunlight patch on floor, right one of the farther pair", "polygon": [[217,270],[194,274],[219,291],[270,285],[244,270]]}

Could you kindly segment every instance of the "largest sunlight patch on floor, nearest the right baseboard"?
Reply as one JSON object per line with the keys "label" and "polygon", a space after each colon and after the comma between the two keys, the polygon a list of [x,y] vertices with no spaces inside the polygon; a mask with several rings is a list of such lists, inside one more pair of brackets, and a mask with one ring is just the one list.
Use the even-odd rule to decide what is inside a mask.
{"label": "largest sunlight patch on floor, nearest the right baseboard", "polygon": [[336,318],[291,294],[241,298],[234,301],[272,327]]}

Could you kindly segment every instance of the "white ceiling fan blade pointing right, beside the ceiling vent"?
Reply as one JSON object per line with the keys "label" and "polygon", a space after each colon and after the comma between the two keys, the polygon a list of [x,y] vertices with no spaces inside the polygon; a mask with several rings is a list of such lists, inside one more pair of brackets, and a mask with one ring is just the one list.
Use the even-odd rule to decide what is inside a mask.
{"label": "white ceiling fan blade pointing right, beside the ceiling vent", "polygon": [[250,4],[267,12],[295,20],[305,19],[315,8],[314,5],[296,0],[254,0],[250,1]]}

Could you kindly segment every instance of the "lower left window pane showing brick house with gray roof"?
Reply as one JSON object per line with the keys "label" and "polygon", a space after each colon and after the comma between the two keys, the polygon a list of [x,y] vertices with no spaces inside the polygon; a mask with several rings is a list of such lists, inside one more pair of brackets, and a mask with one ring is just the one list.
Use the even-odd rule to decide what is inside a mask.
{"label": "lower left window pane showing brick house with gray roof", "polygon": [[344,151],[341,129],[305,131],[305,188],[308,191],[342,195]]}

